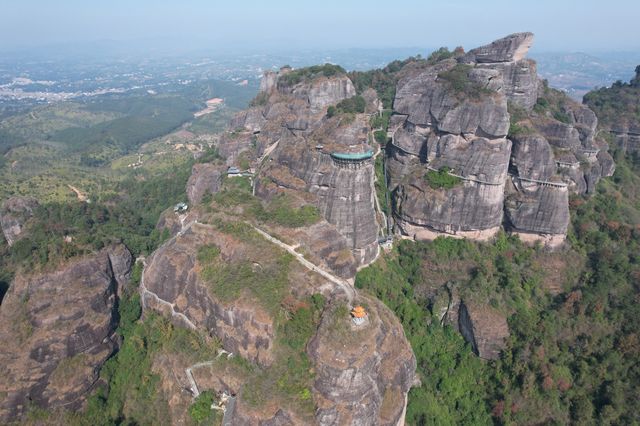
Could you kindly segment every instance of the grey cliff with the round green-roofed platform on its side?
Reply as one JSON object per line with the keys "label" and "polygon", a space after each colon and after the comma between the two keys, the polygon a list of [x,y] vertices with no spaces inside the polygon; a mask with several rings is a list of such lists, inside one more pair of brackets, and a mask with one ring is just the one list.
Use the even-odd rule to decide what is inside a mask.
{"label": "grey cliff with the round green-roofed platform on its side", "polygon": [[[347,167],[331,154],[372,149],[368,115],[358,114],[351,121],[326,117],[328,106],[355,95],[346,75],[320,76],[290,86],[281,79],[287,72],[265,76],[264,90],[257,98],[262,105],[234,119],[236,143],[225,141],[221,153],[233,157],[238,150],[253,149],[255,156],[268,154],[269,160],[258,170],[256,195],[269,199],[284,192],[315,204],[326,221],[322,222],[326,232],[337,230],[344,241],[339,246],[344,244],[352,252],[354,266],[335,271],[353,276],[355,268],[370,262],[378,250],[373,161],[365,159]],[[369,101],[375,104],[375,99]],[[247,138],[253,142],[246,142]]]}

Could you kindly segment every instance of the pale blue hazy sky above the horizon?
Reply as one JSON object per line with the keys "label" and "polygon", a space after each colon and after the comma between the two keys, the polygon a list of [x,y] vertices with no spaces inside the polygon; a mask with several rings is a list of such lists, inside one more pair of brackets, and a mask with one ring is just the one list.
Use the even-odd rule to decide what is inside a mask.
{"label": "pale blue hazy sky above the horizon", "polygon": [[0,0],[0,48],[470,48],[533,31],[536,50],[640,50],[639,18],[638,0]]}

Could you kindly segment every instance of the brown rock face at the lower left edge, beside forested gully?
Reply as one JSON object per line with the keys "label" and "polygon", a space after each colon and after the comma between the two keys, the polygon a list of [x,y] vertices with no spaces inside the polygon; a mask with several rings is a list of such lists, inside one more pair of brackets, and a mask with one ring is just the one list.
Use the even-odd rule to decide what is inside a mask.
{"label": "brown rock face at the lower left edge, beside forested gully", "polygon": [[119,288],[132,258],[122,245],[62,269],[16,277],[0,309],[0,419],[29,404],[79,408],[117,347]]}

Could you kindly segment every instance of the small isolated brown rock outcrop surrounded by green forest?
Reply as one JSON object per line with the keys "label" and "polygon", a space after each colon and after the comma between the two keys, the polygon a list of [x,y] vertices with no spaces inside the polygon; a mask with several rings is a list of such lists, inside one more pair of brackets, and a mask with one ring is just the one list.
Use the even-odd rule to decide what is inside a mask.
{"label": "small isolated brown rock outcrop surrounded by green forest", "polygon": [[497,359],[509,336],[506,318],[488,306],[460,304],[458,328],[473,351],[484,359]]}

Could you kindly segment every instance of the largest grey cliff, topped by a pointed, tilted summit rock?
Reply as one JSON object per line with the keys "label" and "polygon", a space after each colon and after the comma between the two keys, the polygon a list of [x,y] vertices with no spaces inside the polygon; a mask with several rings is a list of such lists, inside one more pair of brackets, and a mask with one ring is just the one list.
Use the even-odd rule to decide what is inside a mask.
{"label": "largest grey cliff, topped by a pointed, tilted summit rock", "polygon": [[[525,58],[532,40],[513,34],[398,82],[386,167],[402,233],[484,240],[504,210],[508,230],[555,247],[569,223],[569,193],[592,192],[611,176],[595,114],[539,82]],[[451,74],[458,86],[466,79],[462,92]],[[444,167],[457,185],[429,183],[428,170]]]}

